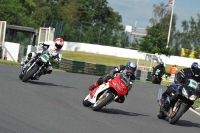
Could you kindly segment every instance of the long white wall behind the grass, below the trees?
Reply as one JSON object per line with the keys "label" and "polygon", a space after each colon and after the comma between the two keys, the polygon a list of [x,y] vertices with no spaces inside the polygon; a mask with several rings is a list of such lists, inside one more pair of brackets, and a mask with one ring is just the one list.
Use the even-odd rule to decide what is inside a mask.
{"label": "long white wall behind the grass, below the trees", "polygon": [[[83,52],[111,55],[124,58],[133,58],[133,59],[138,59],[138,58],[145,59],[145,55],[147,54],[138,52],[138,50],[102,46],[96,44],[76,43],[76,42],[65,42],[63,50],[83,51]],[[179,57],[179,56],[166,57],[165,55],[160,55],[159,57],[165,64],[169,65],[176,64],[178,66],[184,66],[184,67],[190,67],[193,62],[200,62],[199,59]]]}

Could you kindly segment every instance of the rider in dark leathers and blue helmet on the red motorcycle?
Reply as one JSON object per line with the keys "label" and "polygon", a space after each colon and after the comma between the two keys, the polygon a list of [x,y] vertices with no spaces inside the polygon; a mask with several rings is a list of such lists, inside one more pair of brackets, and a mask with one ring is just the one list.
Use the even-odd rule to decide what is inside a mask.
{"label": "rider in dark leathers and blue helmet on the red motorcycle", "polygon": [[[126,64],[126,66],[120,65],[119,67],[115,67],[114,69],[110,70],[109,74],[99,77],[97,82],[95,82],[93,85],[89,86],[89,90],[92,91],[94,88],[98,87],[103,82],[108,82],[109,79],[112,79],[115,77],[116,73],[125,73],[126,76],[128,76],[130,79],[130,84],[129,84],[129,91],[130,91],[132,88],[132,84],[135,80],[135,71],[136,70],[137,70],[137,64],[135,62],[131,62],[131,61],[128,62]],[[128,93],[126,95],[128,95]],[[124,100],[125,100],[125,97],[121,96],[116,101],[119,103],[123,103]]]}

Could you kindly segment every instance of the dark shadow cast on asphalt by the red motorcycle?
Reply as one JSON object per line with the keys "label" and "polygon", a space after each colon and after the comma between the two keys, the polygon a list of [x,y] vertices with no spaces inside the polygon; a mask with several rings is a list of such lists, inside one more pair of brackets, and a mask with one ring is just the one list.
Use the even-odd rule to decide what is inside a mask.
{"label": "dark shadow cast on asphalt by the red motorcycle", "polygon": [[119,109],[108,109],[108,108],[103,108],[103,109],[99,110],[98,112],[109,113],[109,114],[120,114],[120,115],[127,115],[127,116],[139,116],[139,115],[148,116],[148,115],[144,115],[144,114],[138,114],[138,113],[122,111]]}

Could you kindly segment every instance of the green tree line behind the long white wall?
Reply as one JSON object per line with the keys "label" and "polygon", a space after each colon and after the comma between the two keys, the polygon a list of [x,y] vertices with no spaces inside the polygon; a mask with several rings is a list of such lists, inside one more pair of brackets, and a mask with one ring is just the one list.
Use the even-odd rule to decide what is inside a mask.
{"label": "green tree line behind the long white wall", "polygon": [[[153,5],[152,24],[146,27],[147,36],[130,39],[124,31],[122,16],[109,6],[107,0],[0,0],[0,21],[9,25],[27,27],[59,24],[59,34],[66,41],[83,42],[114,47],[129,47],[147,53],[180,56],[181,48],[189,57],[195,51],[199,58],[200,14],[182,22],[182,31],[176,29],[178,15],[173,14],[171,38],[167,35],[171,10],[160,13],[164,3]],[[58,32],[57,32],[58,33]]]}

